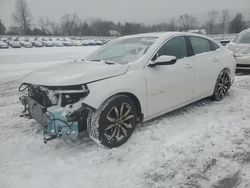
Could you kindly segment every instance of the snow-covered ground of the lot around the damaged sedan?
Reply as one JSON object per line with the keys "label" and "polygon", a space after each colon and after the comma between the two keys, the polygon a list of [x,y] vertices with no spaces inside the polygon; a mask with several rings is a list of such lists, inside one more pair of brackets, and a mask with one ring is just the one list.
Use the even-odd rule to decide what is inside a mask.
{"label": "snow-covered ground of the lot around the damaged sedan", "polygon": [[43,144],[42,128],[20,118],[20,78],[78,59],[96,47],[0,50],[0,188],[250,187],[250,76],[220,102],[204,99],[138,127],[119,148]]}

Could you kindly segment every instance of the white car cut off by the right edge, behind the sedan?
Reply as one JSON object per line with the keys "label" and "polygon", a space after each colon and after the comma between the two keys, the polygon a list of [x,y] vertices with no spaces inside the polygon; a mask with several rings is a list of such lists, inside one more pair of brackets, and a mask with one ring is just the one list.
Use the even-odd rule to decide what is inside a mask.
{"label": "white car cut off by the right edge, behind the sedan", "polygon": [[250,28],[240,32],[227,48],[236,56],[237,70],[250,70]]}

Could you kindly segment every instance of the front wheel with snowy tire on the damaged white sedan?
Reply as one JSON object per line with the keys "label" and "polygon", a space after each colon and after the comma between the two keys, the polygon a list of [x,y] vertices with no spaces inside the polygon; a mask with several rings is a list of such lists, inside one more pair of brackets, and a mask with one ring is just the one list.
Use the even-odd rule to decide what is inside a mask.
{"label": "front wheel with snowy tire on the damaged white sedan", "polygon": [[132,135],[138,120],[134,101],[126,95],[115,95],[97,111],[88,115],[87,130],[95,142],[108,148],[124,144]]}

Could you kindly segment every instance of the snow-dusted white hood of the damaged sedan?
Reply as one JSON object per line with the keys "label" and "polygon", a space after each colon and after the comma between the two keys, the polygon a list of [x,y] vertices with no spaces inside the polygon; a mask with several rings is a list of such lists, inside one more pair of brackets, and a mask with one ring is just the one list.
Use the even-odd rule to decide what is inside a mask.
{"label": "snow-dusted white hood of the damaged sedan", "polygon": [[29,73],[24,83],[43,86],[79,85],[126,73],[128,65],[73,61]]}

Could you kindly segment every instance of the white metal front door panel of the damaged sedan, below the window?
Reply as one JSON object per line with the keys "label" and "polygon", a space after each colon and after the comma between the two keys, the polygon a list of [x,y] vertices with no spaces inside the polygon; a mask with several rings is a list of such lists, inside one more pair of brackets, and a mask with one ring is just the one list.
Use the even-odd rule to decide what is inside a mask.
{"label": "white metal front door panel of the damaged sedan, below the window", "polygon": [[192,101],[194,67],[189,63],[183,58],[174,65],[145,68],[149,116]]}

